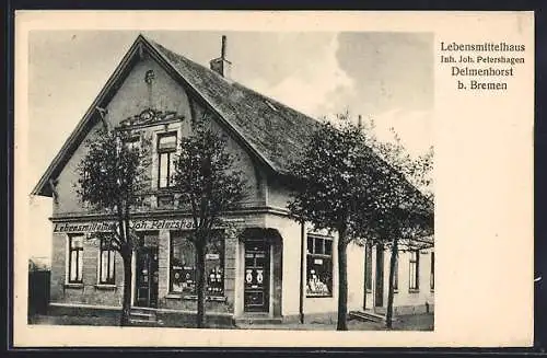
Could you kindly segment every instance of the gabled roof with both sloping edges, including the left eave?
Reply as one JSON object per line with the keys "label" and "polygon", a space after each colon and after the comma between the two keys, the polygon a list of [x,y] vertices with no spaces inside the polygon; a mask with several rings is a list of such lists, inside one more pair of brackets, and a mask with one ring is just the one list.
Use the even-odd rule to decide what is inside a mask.
{"label": "gabled roof with both sloping edges, including the left eave", "polygon": [[113,91],[124,80],[130,62],[142,49],[147,49],[167,72],[201,97],[260,162],[279,174],[289,174],[290,160],[302,153],[306,138],[317,128],[317,120],[237,82],[229,81],[209,68],[139,35],[33,189],[33,195],[51,196],[49,180],[60,173],[97,119],[95,107],[107,104]]}

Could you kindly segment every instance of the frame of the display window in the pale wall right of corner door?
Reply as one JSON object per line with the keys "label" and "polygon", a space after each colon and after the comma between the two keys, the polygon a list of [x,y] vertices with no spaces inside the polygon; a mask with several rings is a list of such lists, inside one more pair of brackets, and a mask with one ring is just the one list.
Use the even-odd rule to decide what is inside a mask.
{"label": "frame of the display window in the pale wall right of corner door", "polygon": [[[312,247],[310,247],[310,240],[312,241]],[[321,241],[321,252],[316,250],[316,242]],[[326,242],[330,242],[330,253],[326,253]],[[321,235],[316,233],[307,233],[306,235],[306,280],[305,290],[306,298],[331,298],[333,297],[333,286],[334,286],[334,238]],[[329,280],[325,282],[327,285],[328,293],[311,293],[307,291],[307,282],[310,280],[310,261],[322,259],[322,265],[326,266],[329,272]]]}

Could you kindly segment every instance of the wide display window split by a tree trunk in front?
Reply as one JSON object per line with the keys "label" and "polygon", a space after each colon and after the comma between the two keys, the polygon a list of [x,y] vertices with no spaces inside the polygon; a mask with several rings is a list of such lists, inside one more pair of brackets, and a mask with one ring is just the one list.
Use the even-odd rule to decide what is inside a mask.
{"label": "wide display window split by a tree trunk in front", "polygon": [[[197,295],[196,250],[187,234],[171,236],[170,291]],[[224,295],[224,240],[219,232],[209,240],[205,257],[206,295]]]}

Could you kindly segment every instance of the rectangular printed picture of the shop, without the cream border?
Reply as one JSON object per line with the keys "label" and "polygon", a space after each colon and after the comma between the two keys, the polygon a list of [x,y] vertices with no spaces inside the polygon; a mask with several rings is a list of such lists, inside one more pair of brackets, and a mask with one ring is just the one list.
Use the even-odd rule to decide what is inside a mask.
{"label": "rectangular printed picture of the shop, without the cream border", "polygon": [[31,33],[28,322],[433,330],[432,41]]}

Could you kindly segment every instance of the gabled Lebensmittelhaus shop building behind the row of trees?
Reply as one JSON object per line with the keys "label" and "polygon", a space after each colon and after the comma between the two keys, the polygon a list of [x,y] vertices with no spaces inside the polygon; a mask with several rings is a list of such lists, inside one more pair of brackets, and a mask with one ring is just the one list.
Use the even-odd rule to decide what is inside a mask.
{"label": "gabled Lebensmittelhaus shop building behind the row of trees", "polygon": [[[194,249],[185,240],[191,222],[177,206],[170,173],[179,138],[188,135],[194,118],[209,113],[211,124],[228,135],[230,150],[240,155],[249,190],[242,209],[226,213],[226,220],[245,229],[241,238],[220,230],[207,254],[207,313],[278,321],[336,314],[337,238],[311,232],[287,210],[288,163],[302,153],[317,122],[232,81],[224,38],[222,44],[222,56],[208,69],[139,36],[36,185],[34,195],[54,198],[51,307],[121,304],[120,256],[86,240],[90,232],[105,231],[109,218],[86,208],[74,190],[77,165],[86,151],[83,142],[105,120],[131,127],[138,134],[136,146],[147,139],[154,149],[150,208],[137,212],[133,222],[143,249],[133,255],[132,303],[172,316],[195,312]],[[401,255],[396,305],[432,308],[429,251],[417,256],[419,264]],[[376,269],[365,273],[364,256],[362,246],[350,244],[349,310],[362,310],[365,297],[366,308],[387,301],[382,275],[372,274]],[[366,265],[382,270],[371,259]],[[410,289],[403,277],[407,272],[416,273],[409,277]],[[365,295],[365,279],[371,292],[383,291],[374,295],[374,304],[372,293]]]}

